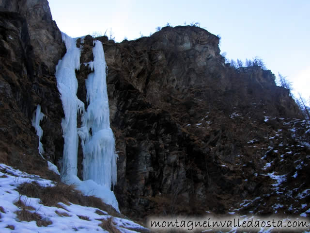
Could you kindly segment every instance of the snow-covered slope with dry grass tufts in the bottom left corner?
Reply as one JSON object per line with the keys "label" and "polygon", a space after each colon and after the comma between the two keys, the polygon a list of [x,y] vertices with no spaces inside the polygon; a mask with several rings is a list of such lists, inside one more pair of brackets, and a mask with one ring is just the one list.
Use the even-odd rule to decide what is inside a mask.
{"label": "snow-covered slope with dry grass tufts in the bottom left corner", "polygon": [[[40,199],[20,195],[16,188],[21,183],[36,182],[41,186],[55,183],[36,175],[30,175],[10,166],[0,164],[0,232],[1,233],[55,233],[55,232],[108,232],[110,227],[122,233],[148,232],[148,229],[133,221],[110,216],[107,212],[93,207],[73,203],[58,203],[58,207],[45,206]],[[22,203],[22,204],[21,204]],[[19,206],[19,207],[18,207]],[[63,208],[61,208],[63,207]],[[36,221],[21,221],[18,212],[37,216]],[[32,216],[32,215],[31,215]],[[46,226],[38,226],[46,225]],[[108,228],[105,231],[103,228]],[[112,225],[112,226],[111,226]]]}

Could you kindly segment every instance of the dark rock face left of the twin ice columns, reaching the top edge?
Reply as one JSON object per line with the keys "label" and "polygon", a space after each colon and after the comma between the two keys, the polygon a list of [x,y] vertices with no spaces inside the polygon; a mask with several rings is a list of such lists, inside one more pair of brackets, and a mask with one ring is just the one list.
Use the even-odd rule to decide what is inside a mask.
{"label": "dark rock face left of the twin ice columns, reaching the top edge", "polygon": [[63,112],[54,73],[65,47],[47,1],[4,0],[0,9],[0,159],[37,170],[46,166],[31,126],[37,104],[45,114],[41,121],[44,156],[54,161],[62,155]]}

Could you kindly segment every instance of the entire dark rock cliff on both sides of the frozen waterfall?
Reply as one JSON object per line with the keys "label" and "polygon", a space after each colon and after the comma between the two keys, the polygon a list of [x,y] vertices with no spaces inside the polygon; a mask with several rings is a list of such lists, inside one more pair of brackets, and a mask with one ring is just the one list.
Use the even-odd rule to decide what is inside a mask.
{"label": "entire dark rock cliff on both sides of the frozen waterfall", "polygon": [[[26,170],[46,166],[31,127],[40,104],[46,115],[44,156],[58,165],[63,112],[54,73],[65,52],[59,29],[46,0],[0,0],[0,7],[0,162]],[[292,120],[301,117],[299,109],[270,70],[228,66],[219,38],[199,27],[165,27],[121,43],[96,39],[108,65],[110,122],[119,155],[114,192],[124,214],[144,219],[206,211],[273,213],[279,190],[270,174],[292,177],[298,171],[279,188],[307,190],[309,148],[300,141],[309,142],[309,123]],[[93,38],[77,46],[78,98],[87,105]],[[81,161],[79,147],[79,177]],[[303,166],[297,169],[295,161]],[[285,204],[278,211],[300,211],[293,198],[282,196]],[[252,201],[243,208],[243,200]]]}

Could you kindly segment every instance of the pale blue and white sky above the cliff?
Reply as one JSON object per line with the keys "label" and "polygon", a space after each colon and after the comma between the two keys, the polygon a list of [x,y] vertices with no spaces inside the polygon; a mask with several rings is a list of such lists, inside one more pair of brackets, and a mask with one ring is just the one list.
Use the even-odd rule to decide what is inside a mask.
{"label": "pale blue and white sky above the cliff", "polygon": [[[48,0],[60,30],[72,37],[110,30],[116,42],[156,27],[199,22],[221,36],[228,59],[263,59],[310,99],[310,0]],[[310,103],[309,103],[310,104]]]}

